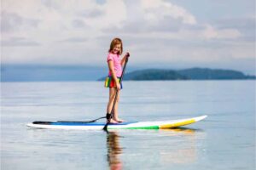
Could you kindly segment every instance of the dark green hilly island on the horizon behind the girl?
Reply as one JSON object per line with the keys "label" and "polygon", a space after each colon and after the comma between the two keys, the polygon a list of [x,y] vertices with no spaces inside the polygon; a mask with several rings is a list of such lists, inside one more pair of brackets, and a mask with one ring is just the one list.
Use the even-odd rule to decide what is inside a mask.
{"label": "dark green hilly island on the horizon behind the girl", "polygon": [[[105,77],[98,79],[103,81]],[[158,80],[245,80],[253,79],[255,76],[248,76],[241,71],[191,68],[184,70],[147,69],[132,71],[125,74],[124,80],[132,81],[158,81]]]}

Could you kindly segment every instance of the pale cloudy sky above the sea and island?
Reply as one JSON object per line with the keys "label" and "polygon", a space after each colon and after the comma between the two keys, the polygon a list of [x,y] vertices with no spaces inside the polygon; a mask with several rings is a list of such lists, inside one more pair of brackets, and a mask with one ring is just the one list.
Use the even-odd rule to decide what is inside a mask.
{"label": "pale cloudy sky above the sea and island", "polygon": [[255,75],[254,0],[1,0],[1,63],[107,65],[120,37],[137,68]]}

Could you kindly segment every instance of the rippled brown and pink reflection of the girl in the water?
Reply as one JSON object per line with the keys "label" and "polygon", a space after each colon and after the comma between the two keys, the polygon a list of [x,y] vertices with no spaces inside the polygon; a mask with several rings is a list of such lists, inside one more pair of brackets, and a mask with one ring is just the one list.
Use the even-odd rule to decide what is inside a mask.
{"label": "rippled brown and pink reflection of the girl in the water", "polygon": [[111,170],[122,169],[122,161],[119,159],[122,147],[119,145],[119,138],[117,132],[107,132],[108,164]]}

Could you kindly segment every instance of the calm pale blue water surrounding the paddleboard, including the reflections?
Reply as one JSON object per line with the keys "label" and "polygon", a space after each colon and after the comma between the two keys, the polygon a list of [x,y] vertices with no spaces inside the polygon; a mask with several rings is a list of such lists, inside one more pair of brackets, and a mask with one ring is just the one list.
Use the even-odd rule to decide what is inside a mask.
{"label": "calm pale blue water surrounding the paddleboard, including the reflections", "polygon": [[1,169],[255,169],[255,81],[124,82],[129,121],[208,115],[170,130],[48,130],[105,114],[102,82],[2,82]]}

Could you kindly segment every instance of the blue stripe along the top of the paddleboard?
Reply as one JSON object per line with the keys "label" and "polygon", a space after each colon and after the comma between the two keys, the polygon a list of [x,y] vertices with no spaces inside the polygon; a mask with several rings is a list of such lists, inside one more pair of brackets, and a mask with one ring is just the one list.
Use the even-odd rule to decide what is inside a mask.
{"label": "blue stripe along the top of the paddleboard", "polygon": [[[128,125],[135,122],[119,122],[119,123],[109,123],[108,125]],[[61,126],[105,126],[106,122],[90,122],[90,123],[83,123],[83,122],[51,122],[49,125],[61,125]]]}

